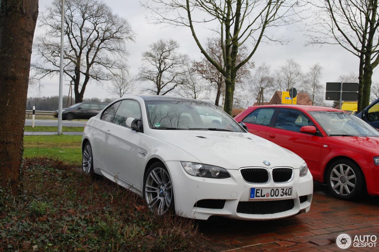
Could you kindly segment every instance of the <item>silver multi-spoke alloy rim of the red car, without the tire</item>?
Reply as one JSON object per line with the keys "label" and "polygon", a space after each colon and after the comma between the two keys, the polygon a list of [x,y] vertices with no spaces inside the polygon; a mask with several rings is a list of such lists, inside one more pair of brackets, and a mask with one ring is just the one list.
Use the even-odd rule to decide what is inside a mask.
{"label": "silver multi-spoke alloy rim of the red car, without the tire", "polygon": [[341,196],[352,193],[356,188],[357,179],[354,170],[346,164],[336,165],[330,173],[330,185],[332,189]]}

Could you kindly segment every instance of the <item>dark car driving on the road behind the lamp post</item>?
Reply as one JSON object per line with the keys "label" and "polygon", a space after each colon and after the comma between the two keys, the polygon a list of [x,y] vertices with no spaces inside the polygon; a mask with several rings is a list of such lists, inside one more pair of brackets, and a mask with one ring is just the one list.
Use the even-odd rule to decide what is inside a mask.
{"label": "dark car driving on the road behind the lamp post", "polygon": [[[62,109],[63,120],[89,119],[99,114],[108,104],[105,103],[77,103]],[[58,117],[58,110],[54,111],[54,117]]]}

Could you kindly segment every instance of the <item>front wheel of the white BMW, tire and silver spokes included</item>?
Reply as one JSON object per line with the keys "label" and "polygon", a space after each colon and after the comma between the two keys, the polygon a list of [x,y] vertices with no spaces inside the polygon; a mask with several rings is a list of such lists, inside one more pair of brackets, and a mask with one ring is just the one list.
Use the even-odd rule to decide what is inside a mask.
{"label": "front wheel of the white BMW, tire and silver spokes included", "polygon": [[147,207],[158,215],[174,210],[174,190],[166,166],[161,162],[153,163],[144,177],[143,195]]}

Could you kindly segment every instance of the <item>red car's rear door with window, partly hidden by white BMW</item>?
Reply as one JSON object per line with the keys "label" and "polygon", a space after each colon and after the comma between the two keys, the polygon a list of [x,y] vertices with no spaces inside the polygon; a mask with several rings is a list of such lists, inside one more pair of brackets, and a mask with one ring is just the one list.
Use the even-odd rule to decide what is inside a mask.
{"label": "red car's rear door with window, partly hidden by white BMW", "polygon": [[251,134],[265,138],[275,110],[276,108],[272,107],[255,109],[242,122],[246,124]]}

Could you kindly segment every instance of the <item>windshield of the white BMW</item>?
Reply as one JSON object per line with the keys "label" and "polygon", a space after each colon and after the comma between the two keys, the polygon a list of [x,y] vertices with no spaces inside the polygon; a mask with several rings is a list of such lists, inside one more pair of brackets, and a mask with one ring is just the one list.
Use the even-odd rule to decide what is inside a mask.
{"label": "windshield of the white BMW", "polygon": [[244,132],[219,107],[188,101],[147,101],[147,117],[152,129],[218,130]]}

